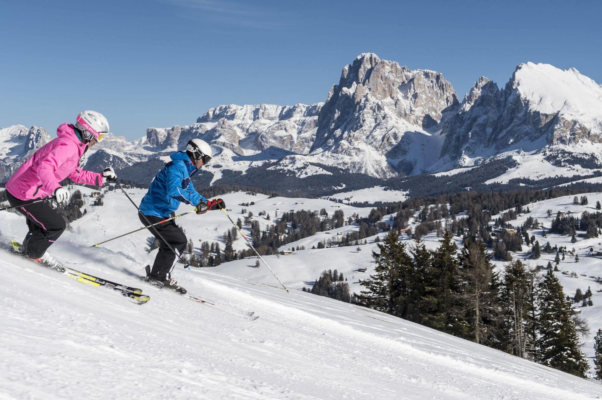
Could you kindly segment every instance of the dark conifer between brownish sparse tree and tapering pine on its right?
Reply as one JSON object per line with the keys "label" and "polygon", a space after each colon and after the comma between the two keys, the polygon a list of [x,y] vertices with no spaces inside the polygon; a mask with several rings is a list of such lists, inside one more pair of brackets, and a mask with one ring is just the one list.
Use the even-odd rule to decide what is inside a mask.
{"label": "dark conifer between brownish sparse tree and tapering pine on its right", "polygon": [[520,260],[506,265],[501,285],[500,303],[504,351],[523,358],[533,358],[535,343],[529,328],[533,325],[533,282],[535,273],[524,268]]}

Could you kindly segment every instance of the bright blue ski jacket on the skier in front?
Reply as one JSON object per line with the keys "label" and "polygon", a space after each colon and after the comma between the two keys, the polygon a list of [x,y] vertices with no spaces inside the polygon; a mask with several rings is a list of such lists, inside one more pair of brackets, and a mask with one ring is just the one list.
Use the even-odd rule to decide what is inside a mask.
{"label": "bright blue ski jacket on the skier in front", "polygon": [[194,190],[190,178],[197,169],[186,152],[177,152],[170,158],[172,161],[161,168],[140,202],[140,212],[144,215],[167,218],[178,209],[181,202],[196,207],[201,200],[207,201]]}

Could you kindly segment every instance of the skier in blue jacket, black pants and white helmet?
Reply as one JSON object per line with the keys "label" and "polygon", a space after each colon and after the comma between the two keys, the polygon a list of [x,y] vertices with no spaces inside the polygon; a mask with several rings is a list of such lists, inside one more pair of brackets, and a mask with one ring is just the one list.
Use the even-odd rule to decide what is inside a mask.
{"label": "skier in blue jacket, black pants and white helmet", "polygon": [[[196,214],[226,208],[221,198],[207,200],[200,195],[194,190],[191,182],[191,177],[196,171],[211,160],[211,147],[205,141],[190,140],[185,152],[177,152],[170,158],[172,161],[155,176],[149,191],[140,202],[138,217],[145,226],[169,218],[170,214],[178,209],[180,203],[196,206]],[[171,277],[171,272],[186,247],[186,235],[174,220],[149,227],[149,230],[160,243],[150,280],[155,285],[184,294],[186,290],[176,285],[177,282]]]}

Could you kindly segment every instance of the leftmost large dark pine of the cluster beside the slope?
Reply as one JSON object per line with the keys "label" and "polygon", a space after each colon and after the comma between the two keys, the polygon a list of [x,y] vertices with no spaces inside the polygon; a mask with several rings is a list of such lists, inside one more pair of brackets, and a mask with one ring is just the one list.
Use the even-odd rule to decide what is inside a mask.
{"label": "leftmost large dark pine of the cluster beside the slope", "polygon": [[366,290],[358,296],[359,301],[371,309],[403,318],[408,311],[408,266],[412,263],[406,244],[400,242],[397,231],[392,229],[377,247],[380,253],[372,252],[375,273],[361,282]]}

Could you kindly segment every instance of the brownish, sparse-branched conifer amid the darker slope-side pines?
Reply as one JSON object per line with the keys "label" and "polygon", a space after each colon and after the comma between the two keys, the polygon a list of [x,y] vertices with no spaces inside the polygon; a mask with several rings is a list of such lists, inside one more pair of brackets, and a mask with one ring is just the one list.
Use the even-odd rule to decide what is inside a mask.
{"label": "brownish, sparse-branched conifer amid the darker slope-side pines", "polygon": [[469,337],[477,343],[495,346],[500,325],[499,282],[494,265],[487,258],[485,244],[469,241],[459,260],[462,298],[468,306]]}

